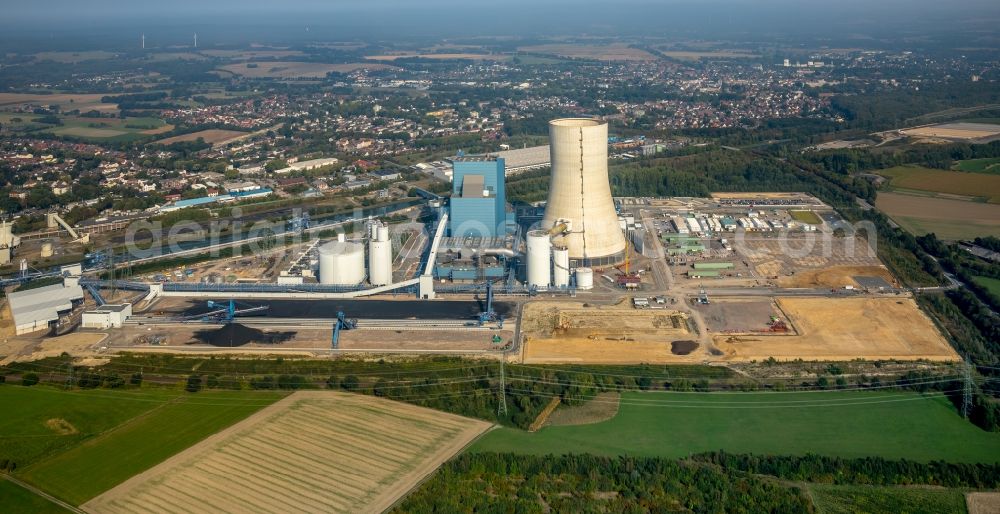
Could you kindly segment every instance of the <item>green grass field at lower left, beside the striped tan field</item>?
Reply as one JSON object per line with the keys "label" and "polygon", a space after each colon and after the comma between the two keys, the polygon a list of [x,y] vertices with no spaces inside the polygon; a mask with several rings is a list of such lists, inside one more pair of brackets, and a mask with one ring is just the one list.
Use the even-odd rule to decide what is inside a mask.
{"label": "green grass field at lower left, beside the striped tan field", "polygon": [[[282,396],[5,386],[0,412],[11,415],[0,421],[0,441],[27,463],[18,465],[19,478],[79,505]],[[71,429],[50,428],[51,419],[65,420]]]}

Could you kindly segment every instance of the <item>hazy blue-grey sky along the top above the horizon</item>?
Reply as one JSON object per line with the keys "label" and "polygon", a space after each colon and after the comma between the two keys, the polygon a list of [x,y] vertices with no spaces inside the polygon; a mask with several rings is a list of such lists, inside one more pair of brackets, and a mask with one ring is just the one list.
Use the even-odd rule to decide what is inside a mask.
{"label": "hazy blue-grey sky along the top above the horizon", "polygon": [[88,33],[144,28],[349,34],[678,32],[843,34],[995,30],[1000,0],[0,0],[0,27]]}

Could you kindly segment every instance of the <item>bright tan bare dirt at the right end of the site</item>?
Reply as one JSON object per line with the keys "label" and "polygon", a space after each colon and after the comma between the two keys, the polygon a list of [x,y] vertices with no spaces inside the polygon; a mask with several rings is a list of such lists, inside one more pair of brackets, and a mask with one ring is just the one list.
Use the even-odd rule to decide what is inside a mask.
{"label": "bright tan bare dirt at the right end of the site", "polygon": [[910,298],[778,298],[798,335],[714,336],[722,360],[957,361]]}

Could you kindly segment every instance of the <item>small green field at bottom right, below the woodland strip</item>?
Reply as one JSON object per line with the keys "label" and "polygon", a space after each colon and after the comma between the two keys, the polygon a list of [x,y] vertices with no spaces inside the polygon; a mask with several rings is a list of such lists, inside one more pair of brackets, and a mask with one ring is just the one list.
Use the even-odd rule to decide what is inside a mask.
{"label": "small green field at bottom right, below the woodland strip", "polygon": [[965,493],[957,489],[809,484],[808,490],[819,514],[966,512]]}

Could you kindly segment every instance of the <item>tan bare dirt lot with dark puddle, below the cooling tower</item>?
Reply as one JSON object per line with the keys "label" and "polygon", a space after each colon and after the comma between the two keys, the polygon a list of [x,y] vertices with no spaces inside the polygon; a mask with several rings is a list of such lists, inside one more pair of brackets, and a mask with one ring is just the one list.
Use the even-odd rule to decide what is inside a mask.
{"label": "tan bare dirt lot with dark puddle, below the cooling tower", "polygon": [[578,302],[533,302],[522,311],[523,362],[634,364],[697,362],[704,349],[673,353],[672,343],[694,338],[687,315],[633,309],[629,304],[584,307]]}

